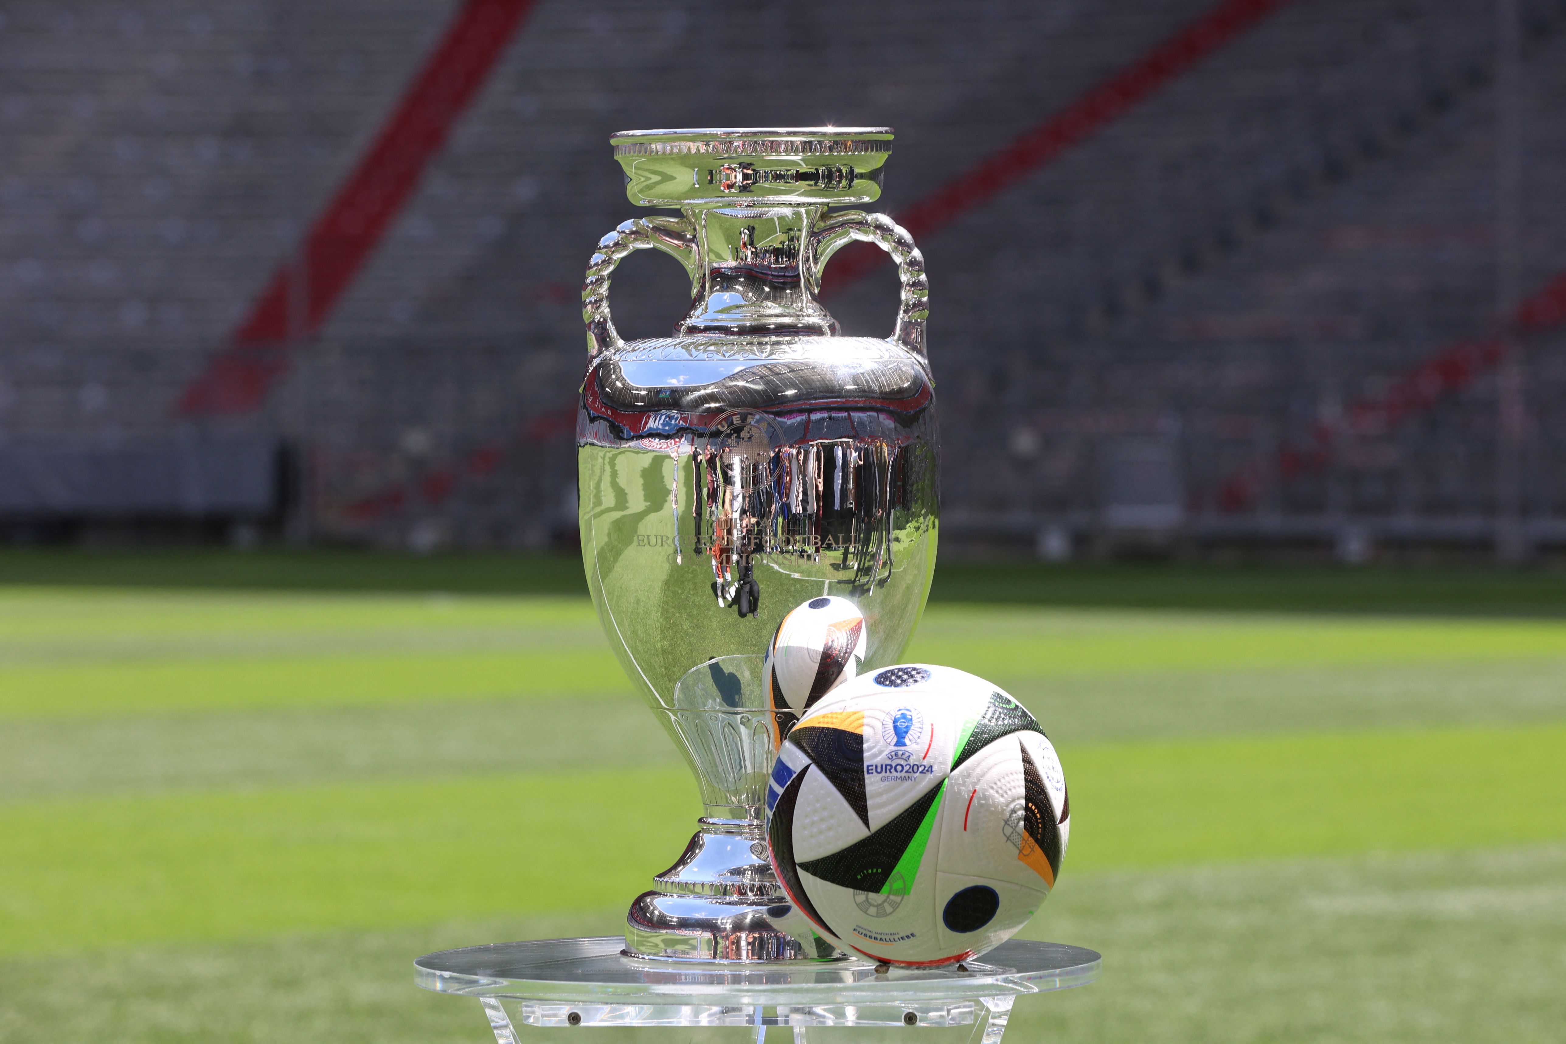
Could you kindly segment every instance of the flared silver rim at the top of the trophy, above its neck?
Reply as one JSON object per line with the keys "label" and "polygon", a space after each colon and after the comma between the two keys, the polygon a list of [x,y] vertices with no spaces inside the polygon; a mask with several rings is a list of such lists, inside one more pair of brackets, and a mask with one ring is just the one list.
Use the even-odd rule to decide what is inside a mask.
{"label": "flared silver rim at the top of the trophy, above its neck", "polygon": [[891,127],[626,130],[609,138],[640,207],[872,203]]}

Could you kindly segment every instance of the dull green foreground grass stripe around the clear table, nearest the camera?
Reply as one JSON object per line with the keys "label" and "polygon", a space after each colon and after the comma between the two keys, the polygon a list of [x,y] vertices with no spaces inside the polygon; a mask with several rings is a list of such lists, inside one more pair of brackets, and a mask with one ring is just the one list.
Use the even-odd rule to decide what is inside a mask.
{"label": "dull green foreground grass stripe around the clear table, nearest the camera", "polygon": [[[482,1044],[479,1005],[413,989],[412,956],[614,934],[625,905],[0,958],[0,1039]],[[1558,1044],[1563,923],[1566,847],[1076,873],[1024,933],[1102,950],[1104,978],[1018,999],[1007,1038]]]}

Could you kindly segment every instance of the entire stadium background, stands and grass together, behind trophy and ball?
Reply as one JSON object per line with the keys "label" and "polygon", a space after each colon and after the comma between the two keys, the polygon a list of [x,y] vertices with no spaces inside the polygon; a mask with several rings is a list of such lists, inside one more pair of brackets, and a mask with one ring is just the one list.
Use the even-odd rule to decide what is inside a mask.
{"label": "entire stadium background, stands and grass together, behind trophy and ball", "polygon": [[1566,598],[1480,563],[1566,543],[1563,56],[1553,0],[0,3],[0,1039],[479,1041],[413,955],[617,930],[694,787],[517,553],[606,138],[835,122],[935,291],[910,656],[1049,728],[1027,931],[1107,955],[1012,1035],[1553,1042]]}

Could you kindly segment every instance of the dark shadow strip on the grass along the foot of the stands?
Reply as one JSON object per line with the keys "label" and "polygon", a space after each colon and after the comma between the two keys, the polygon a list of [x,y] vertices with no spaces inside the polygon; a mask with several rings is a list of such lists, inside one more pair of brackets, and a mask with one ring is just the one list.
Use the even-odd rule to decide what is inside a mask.
{"label": "dark shadow strip on the grass along the foot of the stands", "polygon": [[[211,590],[586,595],[575,554],[357,549],[0,551],[0,584]],[[932,601],[1121,609],[1566,615],[1557,571],[946,562]]]}

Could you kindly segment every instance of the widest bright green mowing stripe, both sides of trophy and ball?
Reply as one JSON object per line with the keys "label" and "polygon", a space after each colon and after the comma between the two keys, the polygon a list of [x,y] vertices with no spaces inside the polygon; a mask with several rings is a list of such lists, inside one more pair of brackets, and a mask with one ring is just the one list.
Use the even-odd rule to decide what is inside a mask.
{"label": "widest bright green mowing stripe, both sides of trophy and ball", "polygon": [[[1566,839],[1566,726],[1063,753],[1074,870]],[[628,902],[698,814],[683,769],[0,808],[0,953]]]}

